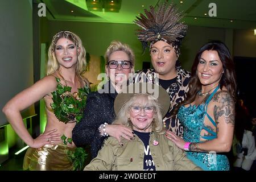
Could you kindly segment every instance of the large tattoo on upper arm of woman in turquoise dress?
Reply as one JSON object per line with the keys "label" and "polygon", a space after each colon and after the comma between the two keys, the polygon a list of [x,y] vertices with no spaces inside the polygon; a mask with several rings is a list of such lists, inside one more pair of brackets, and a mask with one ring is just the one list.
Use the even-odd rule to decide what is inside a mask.
{"label": "large tattoo on upper arm of woman in turquoise dress", "polygon": [[219,92],[213,97],[213,102],[217,102],[214,105],[214,119],[218,125],[218,118],[224,116],[226,123],[234,125],[234,101],[228,92]]}

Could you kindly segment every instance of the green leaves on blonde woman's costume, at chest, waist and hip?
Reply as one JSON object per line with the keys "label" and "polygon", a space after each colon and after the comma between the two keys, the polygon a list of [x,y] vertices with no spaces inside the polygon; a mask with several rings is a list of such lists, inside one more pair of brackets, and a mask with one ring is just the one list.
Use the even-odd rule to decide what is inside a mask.
{"label": "green leaves on blonde woman's costume, at chest, waist and hip", "polygon": [[[90,93],[89,86],[84,86],[78,89],[78,93],[71,93],[70,86],[64,86],[60,83],[60,78],[56,77],[57,88],[52,92],[51,107],[53,113],[59,119],[59,121],[68,122],[80,122],[82,119],[82,111],[84,110],[86,99]],[[67,138],[64,134],[61,136],[63,144],[67,145],[72,143],[72,138]],[[80,171],[85,167],[86,154],[84,148],[78,147],[75,151],[67,150],[68,159],[73,164],[73,170]]]}

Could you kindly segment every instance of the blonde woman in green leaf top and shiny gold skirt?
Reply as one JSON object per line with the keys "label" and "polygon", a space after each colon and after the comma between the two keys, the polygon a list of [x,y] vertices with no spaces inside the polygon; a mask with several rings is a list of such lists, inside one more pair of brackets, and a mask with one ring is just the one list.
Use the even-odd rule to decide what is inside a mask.
{"label": "blonde woman in green leaf top and shiny gold skirt", "polygon": [[[85,48],[79,36],[69,31],[58,32],[49,47],[47,76],[18,93],[3,108],[13,129],[30,146],[23,169],[82,167],[86,154],[72,142],[72,130],[81,119],[89,92],[88,80],[82,77],[85,65]],[[23,124],[20,111],[42,98],[46,102],[46,129],[33,139]]]}

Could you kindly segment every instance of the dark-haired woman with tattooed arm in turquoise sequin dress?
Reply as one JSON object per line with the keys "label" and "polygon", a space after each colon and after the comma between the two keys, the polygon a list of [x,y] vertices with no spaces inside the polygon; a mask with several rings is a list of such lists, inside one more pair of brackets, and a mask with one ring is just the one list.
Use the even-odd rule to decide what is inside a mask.
{"label": "dark-haired woman with tattooed arm in turquoise sequin dress", "polygon": [[183,138],[167,131],[166,137],[204,170],[229,170],[223,152],[229,152],[234,131],[236,75],[228,48],[222,42],[201,47],[193,63],[187,99],[177,114],[184,126]]}

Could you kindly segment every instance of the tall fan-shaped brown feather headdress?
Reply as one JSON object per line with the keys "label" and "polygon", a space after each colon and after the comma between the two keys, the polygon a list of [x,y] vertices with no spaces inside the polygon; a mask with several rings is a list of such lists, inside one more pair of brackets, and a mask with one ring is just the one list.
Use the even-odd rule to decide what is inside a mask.
{"label": "tall fan-shaped brown feather headdress", "polygon": [[[158,6],[155,11],[153,6],[150,6],[150,11],[144,9],[146,16],[142,13],[140,18],[134,20],[143,30],[137,30],[138,39],[141,41],[143,50],[148,47],[148,43],[155,43],[158,40],[163,40],[171,44],[175,48],[177,56],[180,55],[180,44],[187,32],[187,25],[179,22],[183,18],[183,14],[178,12],[176,5],[167,2]],[[151,47],[151,46],[150,46]]]}

